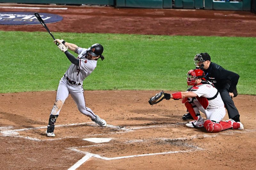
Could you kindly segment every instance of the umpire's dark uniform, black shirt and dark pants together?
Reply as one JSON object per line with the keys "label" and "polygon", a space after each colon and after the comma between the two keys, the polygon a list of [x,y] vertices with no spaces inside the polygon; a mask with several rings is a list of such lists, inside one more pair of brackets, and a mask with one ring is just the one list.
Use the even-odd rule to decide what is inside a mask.
{"label": "umpire's dark uniform, black shirt and dark pants together", "polygon": [[233,92],[234,97],[237,96],[236,85],[240,76],[232,71],[225,70],[220,65],[212,62],[210,63],[209,68],[204,70],[204,73],[206,79],[212,82],[220,92],[220,96],[228,110],[229,119],[240,122],[238,110],[229,95],[229,92]]}

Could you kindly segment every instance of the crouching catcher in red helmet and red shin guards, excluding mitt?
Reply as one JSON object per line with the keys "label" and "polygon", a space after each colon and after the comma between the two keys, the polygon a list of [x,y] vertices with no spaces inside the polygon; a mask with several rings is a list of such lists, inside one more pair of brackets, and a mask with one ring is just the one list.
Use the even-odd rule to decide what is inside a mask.
{"label": "crouching catcher in red helmet and red shin guards, excluding mitt", "polygon": [[[204,78],[203,70],[189,70],[187,74],[187,83],[192,85],[191,91],[176,92],[172,94],[164,93],[165,99],[182,99],[194,121],[186,124],[191,128],[203,128],[208,132],[220,132],[229,128],[243,130],[244,126],[241,122],[235,122],[230,119],[221,121],[226,110],[218,90]],[[199,111],[205,114],[204,122]]]}

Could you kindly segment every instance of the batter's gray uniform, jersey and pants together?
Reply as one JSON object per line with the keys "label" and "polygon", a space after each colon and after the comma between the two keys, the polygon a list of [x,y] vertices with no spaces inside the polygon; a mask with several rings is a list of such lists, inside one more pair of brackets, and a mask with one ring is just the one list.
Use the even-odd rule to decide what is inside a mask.
{"label": "batter's gray uniform, jersey and pants together", "polygon": [[[59,115],[60,109],[70,93],[71,97],[76,102],[78,110],[82,114],[89,116],[91,119],[96,117],[92,109],[85,105],[83,81],[96,68],[97,61],[85,58],[86,51],[86,48],[77,48],[75,51],[78,54],[77,58],[80,59],[79,66],[71,64],[64,76],[60,79],[56,102],[52,107],[51,115]],[[68,82],[68,79],[73,81],[74,84]]]}

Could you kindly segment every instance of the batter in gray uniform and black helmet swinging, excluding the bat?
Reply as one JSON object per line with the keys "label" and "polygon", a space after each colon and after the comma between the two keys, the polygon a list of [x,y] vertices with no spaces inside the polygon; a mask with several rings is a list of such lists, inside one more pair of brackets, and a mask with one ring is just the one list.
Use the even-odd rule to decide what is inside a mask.
{"label": "batter in gray uniform and black helmet swinging, excluding the bat", "polygon": [[[77,108],[82,114],[90,117],[93,122],[99,124],[101,127],[106,127],[106,121],[101,119],[98,115],[95,115],[89,107],[86,107],[83,88],[83,81],[95,69],[97,60],[99,58],[104,60],[104,56],[102,55],[102,45],[93,44],[90,48],[81,48],[64,40],[56,39],[53,42],[55,44],[57,44],[57,42],[60,44],[58,48],[65,53],[68,60],[71,62],[71,65],[65,72],[64,76],[60,79],[56,101],[52,107],[46,130],[47,136],[55,137],[54,125],[59,116],[60,109],[69,94],[76,102]],[[69,53],[68,49],[78,54],[78,57],[76,58],[74,55]]]}

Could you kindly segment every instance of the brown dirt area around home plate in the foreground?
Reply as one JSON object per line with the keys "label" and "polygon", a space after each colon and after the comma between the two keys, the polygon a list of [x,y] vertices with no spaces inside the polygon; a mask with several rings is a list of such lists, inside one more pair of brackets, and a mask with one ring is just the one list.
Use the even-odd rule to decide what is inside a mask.
{"label": "brown dirt area around home plate in the foreground", "polygon": [[[86,91],[87,106],[107,120],[106,128],[79,113],[69,96],[57,120],[60,127],[55,138],[45,136],[55,91],[1,94],[0,166],[68,169],[87,154],[92,157],[78,169],[254,169],[255,96],[234,99],[245,130],[210,134],[185,126],[180,101],[164,100],[150,107],[148,97],[155,93]],[[112,140],[100,144],[82,140],[92,137]]]}

